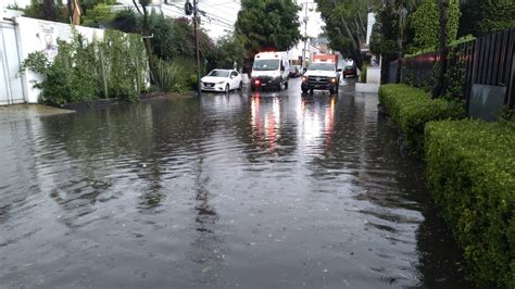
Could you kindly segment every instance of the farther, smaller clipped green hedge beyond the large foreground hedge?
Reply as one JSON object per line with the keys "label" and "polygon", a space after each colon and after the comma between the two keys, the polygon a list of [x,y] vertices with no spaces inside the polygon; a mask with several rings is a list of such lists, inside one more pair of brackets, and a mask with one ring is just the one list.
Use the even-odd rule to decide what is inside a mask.
{"label": "farther, smaller clipped green hedge beyond the large foreground hedge", "polygon": [[463,105],[443,99],[431,99],[420,88],[407,85],[382,85],[379,102],[386,106],[391,121],[404,134],[410,153],[424,153],[424,126],[430,121],[457,120],[465,115]]}

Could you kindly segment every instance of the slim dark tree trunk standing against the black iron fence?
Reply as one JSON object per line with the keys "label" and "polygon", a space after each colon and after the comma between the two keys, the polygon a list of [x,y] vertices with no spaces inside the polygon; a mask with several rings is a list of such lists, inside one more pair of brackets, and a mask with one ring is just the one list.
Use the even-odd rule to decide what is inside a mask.
{"label": "slim dark tree trunk standing against the black iron fence", "polygon": [[439,42],[439,52],[440,60],[438,62],[438,70],[436,71],[437,77],[435,81],[435,87],[432,89],[432,98],[441,97],[445,90],[444,81],[447,74],[447,59],[449,54],[448,42],[448,33],[447,24],[449,22],[449,0],[439,0],[438,8],[440,11],[440,42]]}

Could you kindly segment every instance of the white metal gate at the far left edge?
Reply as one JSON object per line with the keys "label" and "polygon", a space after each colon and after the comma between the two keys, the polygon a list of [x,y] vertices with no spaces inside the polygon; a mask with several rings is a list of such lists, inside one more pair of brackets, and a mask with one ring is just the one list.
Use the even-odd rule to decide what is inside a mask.
{"label": "white metal gate at the far left edge", "polygon": [[0,105],[25,102],[17,43],[14,24],[0,22]]}

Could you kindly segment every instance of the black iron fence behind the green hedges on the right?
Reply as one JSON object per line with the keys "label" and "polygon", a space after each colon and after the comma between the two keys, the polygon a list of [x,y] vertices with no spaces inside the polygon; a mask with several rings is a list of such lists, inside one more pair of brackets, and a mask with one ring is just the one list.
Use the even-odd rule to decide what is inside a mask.
{"label": "black iron fence behind the green hedges on the right", "polygon": [[[502,88],[504,104],[515,106],[515,27],[450,48],[445,91],[469,101],[474,85]],[[402,60],[401,81],[432,87],[439,54],[429,52]],[[395,81],[399,61],[388,67],[388,81]]]}

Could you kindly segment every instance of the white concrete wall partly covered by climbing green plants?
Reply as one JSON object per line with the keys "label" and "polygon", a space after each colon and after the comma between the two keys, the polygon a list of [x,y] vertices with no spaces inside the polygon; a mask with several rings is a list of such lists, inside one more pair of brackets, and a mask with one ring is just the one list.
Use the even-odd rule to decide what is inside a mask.
{"label": "white concrete wall partly covered by climbing green plants", "polygon": [[[58,39],[65,41],[71,40],[72,26],[68,24],[29,17],[16,17],[15,23],[18,33],[20,54],[22,55],[22,61],[25,60],[29,53],[36,51],[43,51],[50,60],[53,60],[58,53]],[[88,40],[92,40],[93,37],[103,37],[103,30],[101,29],[83,26],[76,26],[75,28]],[[14,43],[12,49],[14,49]],[[28,103],[36,103],[40,91],[33,86],[34,83],[41,80],[41,76],[34,72],[25,72],[24,76],[26,91],[26,96],[24,96],[25,101]]]}

